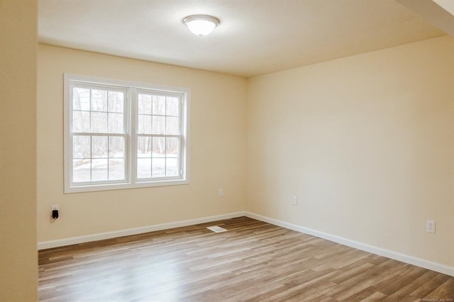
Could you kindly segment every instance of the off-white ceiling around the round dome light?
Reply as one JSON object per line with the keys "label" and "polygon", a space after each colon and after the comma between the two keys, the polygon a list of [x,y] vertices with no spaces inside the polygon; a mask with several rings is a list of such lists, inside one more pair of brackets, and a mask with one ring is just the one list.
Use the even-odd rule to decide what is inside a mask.
{"label": "off-white ceiling around the round dome light", "polygon": [[40,0],[38,20],[43,44],[241,77],[445,35],[394,0]]}

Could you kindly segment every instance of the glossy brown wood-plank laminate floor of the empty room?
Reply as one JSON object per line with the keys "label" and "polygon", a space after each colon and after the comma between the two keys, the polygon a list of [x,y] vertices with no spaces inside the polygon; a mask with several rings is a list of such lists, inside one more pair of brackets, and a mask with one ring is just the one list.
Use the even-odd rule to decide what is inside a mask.
{"label": "glossy brown wood-plank laminate floor of the empty room", "polygon": [[450,302],[454,277],[241,217],[41,250],[38,291],[41,301]]}

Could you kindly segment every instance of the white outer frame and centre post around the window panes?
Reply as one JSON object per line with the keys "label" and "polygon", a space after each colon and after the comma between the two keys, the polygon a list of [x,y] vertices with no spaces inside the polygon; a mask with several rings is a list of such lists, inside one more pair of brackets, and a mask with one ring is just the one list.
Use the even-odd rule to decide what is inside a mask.
{"label": "white outer frame and centre post around the window panes", "polygon": [[[125,180],[116,181],[72,181],[73,147],[72,147],[72,86],[101,86],[107,89],[126,91],[124,102],[125,137]],[[138,94],[140,92],[178,96],[180,104],[180,149],[179,149],[179,176],[162,177],[153,179],[137,178],[137,133],[138,125]],[[139,82],[122,81],[118,79],[105,79],[89,77],[79,74],[64,74],[64,177],[65,194],[107,191],[116,189],[133,189],[151,186],[171,186],[189,184],[189,99],[190,90],[184,87],[162,86]],[[91,133],[92,135],[94,133]],[[123,136],[123,135],[122,135]],[[168,135],[170,136],[170,135]]]}

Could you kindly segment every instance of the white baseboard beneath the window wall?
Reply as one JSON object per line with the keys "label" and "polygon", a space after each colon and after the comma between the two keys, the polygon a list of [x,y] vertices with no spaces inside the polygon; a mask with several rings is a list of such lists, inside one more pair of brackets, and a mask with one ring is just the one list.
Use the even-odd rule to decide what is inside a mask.
{"label": "white baseboard beneath the window wall", "polygon": [[78,243],[83,243],[83,242],[111,239],[111,238],[123,237],[123,236],[128,236],[128,235],[137,235],[137,234],[142,234],[142,233],[154,232],[156,230],[167,230],[170,228],[179,228],[179,227],[184,227],[184,226],[188,226],[188,225],[196,225],[199,223],[209,223],[211,221],[230,219],[230,218],[236,218],[236,217],[241,217],[241,216],[245,216],[245,212],[240,211],[240,212],[228,213],[228,214],[223,214],[223,215],[218,215],[218,216],[209,216],[209,217],[204,217],[204,218],[175,221],[173,223],[161,223],[158,225],[148,225],[148,226],[140,227],[140,228],[129,228],[126,230],[116,230],[116,231],[112,231],[112,232],[97,233],[97,234],[93,234],[93,235],[70,237],[70,238],[50,240],[50,241],[42,241],[42,242],[38,242],[38,250],[50,249],[52,247],[63,247],[65,245],[77,245]]}

